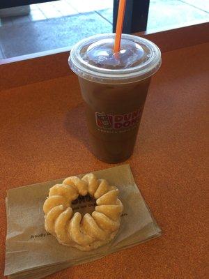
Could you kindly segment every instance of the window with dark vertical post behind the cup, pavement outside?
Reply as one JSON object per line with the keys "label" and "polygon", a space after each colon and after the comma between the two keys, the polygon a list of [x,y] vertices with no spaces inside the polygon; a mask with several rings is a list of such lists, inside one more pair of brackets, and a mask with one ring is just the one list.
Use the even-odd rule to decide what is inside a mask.
{"label": "window with dark vertical post behind the cup, pavement outside", "polygon": [[[82,38],[112,32],[117,8],[118,0],[1,0],[0,59],[69,50]],[[123,32],[160,31],[208,20],[206,0],[127,0]]]}

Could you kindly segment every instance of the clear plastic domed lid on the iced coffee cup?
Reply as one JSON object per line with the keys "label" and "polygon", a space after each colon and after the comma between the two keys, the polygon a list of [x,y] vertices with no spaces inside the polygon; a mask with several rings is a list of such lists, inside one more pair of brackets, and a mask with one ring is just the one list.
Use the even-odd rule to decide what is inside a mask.
{"label": "clear plastic domed lid on the iced coffee cup", "polygon": [[150,77],[160,68],[157,45],[122,34],[121,51],[114,53],[114,33],[79,41],[70,52],[69,66],[79,77],[104,84],[125,84]]}

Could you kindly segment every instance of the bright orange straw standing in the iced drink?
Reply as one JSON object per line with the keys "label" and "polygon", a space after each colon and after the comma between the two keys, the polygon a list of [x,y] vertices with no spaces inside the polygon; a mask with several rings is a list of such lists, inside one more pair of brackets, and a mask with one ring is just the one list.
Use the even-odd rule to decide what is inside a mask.
{"label": "bright orange straw standing in the iced drink", "polygon": [[121,35],[123,31],[123,21],[125,15],[125,4],[126,0],[120,0],[119,8],[118,8],[118,19],[116,25],[116,38],[114,44],[114,52],[119,52],[121,48]]}

